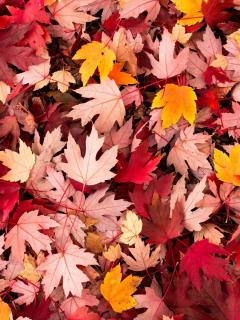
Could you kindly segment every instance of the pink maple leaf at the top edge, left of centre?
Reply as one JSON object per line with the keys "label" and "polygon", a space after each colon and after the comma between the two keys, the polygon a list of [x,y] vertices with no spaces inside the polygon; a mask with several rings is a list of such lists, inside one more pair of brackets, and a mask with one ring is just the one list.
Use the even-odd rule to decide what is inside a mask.
{"label": "pink maple leaf at the top edge, left of centre", "polygon": [[78,12],[77,9],[79,5],[78,0],[62,0],[61,2],[53,3],[48,9],[52,17],[54,17],[61,26],[74,29],[73,22],[86,24],[96,19],[85,12]]}

